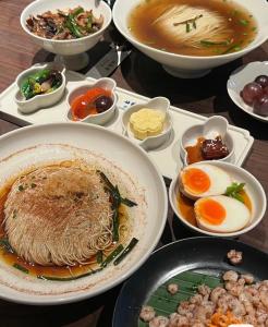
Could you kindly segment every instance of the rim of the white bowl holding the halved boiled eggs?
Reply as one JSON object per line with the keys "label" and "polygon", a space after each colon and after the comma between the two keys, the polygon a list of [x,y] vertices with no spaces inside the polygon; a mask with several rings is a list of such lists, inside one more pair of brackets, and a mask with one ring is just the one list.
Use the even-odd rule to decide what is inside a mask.
{"label": "rim of the white bowl holding the halved boiled eggs", "polygon": [[[249,226],[247,226],[246,228],[243,228],[239,231],[235,232],[230,232],[230,233],[217,233],[217,232],[210,232],[210,231],[206,231],[203,230],[198,227],[195,227],[193,225],[191,225],[186,219],[184,219],[178,210],[178,206],[176,204],[173,202],[173,197],[174,197],[174,193],[175,193],[175,186],[178,184],[178,179],[179,179],[179,174],[172,179],[171,183],[170,183],[170,187],[169,187],[169,202],[171,204],[171,207],[175,214],[175,216],[180,219],[180,221],[182,221],[184,225],[186,225],[190,229],[200,233],[200,234],[206,234],[209,237],[217,237],[217,238],[234,238],[234,237],[239,237],[241,234],[247,233],[248,231],[251,231],[252,229],[254,229],[264,218],[265,211],[266,211],[266,207],[267,207],[267,198],[266,198],[266,194],[265,194],[265,190],[263,187],[263,185],[259,183],[259,181],[247,170],[245,170],[242,167],[235,166],[231,162],[226,162],[226,161],[200,161],[200,162],[196,162],[193,165],[202,165],[202,164],[209,164],[209,165],[219,165],[219,166],[227,166],[231,169],[235,169],[235,170],[241,170],[243,171],[243,173],[245,173],[247,175],[247,178],[251,180],[252,183],[255,184],[256,187],[259,189],[259,192],[261,194],[261,203],[263,203],[263,209],[258,214],[258,219],[256,219],[256,221],[254,221],[253,223],[251,223]],[[221,167],[222,168],[222,167]]]}

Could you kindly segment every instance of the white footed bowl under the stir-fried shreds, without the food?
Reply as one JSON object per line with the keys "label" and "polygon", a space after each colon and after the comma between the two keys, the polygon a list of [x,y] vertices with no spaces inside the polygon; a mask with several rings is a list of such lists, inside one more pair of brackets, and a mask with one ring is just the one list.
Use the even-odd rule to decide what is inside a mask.
{"label": "white footed bowl under the stir-fried shreds, without the food", "polygon": [[[71,40],[53,40],[39,37],[28,31],[26,20],[29,15],[42,14],[46,11],[56,11],[57,9],[73,9],[83,7],[86,10],[93,10],[98,17],[103,15],[105,22],[102,27],[86,37]],[[29,3],[21,14],[22,28],[29,35],[34,43],[49,52],[59,55],[56,60],[64,63],[68,69],[81,70],[88,64],[88,57],[85,51],[93,48],[103,35],[103,32],[111,23],[111,9],[105,1],[95,0],[36,0]]]}

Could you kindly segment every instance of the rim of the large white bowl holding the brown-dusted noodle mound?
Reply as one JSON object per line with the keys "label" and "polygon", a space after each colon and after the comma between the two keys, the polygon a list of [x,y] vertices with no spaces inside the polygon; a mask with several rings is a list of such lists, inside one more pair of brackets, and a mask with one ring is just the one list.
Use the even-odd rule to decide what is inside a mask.
{"label": "rim of the large white bowl holding the brown-dusted noodle mound", "polygon": [[[109,286],[105,286],[101,290],[98,289],[94,292],[92,292],[90,295],[88,295],[88,292],[77,292],[77,291],[74,291],[72,293],[69,293],[68,296],[64,296],[64,295],[57,295],[56,299],[48,299],[50,295],[48,295],[48,298],[44,296],[44,295],[39,295],[39,296],[33,296],[31,298],[31,295],[28,298],[19,298],[19,294],[20,292],[15,292],[15,293],[11,293],[10,295],[2,295],[0,293],[0,299],[3,299],[3,300],[10,300],[14,303],[23,303],[23,304],[35,304],[35,305],[60,305],[60,304],[65,304],[65,303],[73,303],[73,302],[78,302],[78,301],[82,301],[82,300],[85,300],[85,299],[89,299],[89,298],[94,298],[96,295],[99,295],[99,294],[102,294],[105,293],[106,291],[108,290],[111,290],[113,289],[114,287],[117,287],[118,284],[120,284],[121,282],[123,282],[126,278],[129,278],[130,276],[132,276],[146,261],[147,258],[150,256],[150,254],[153,253],[153,251],[156,249],[161,235],[162,235],[162,232],[163,232],[163,229],[165,229],[165,226],[166,226],[166,222],[167,222],[167,215],[168,215],[168,195],[167,195],[167,187],[166,187],[166,184],[165,184],[165,180],[159,171],[159,169],[157,168],[157,166],[154,164],[154,161],[148,157],[147,153],[138,145],[134,144],[133,142],[131,142],[130,140],[127,140],[126,137],[113,132],[113,131],[110,131],[103,126],[100,126],[100,125],[95,125],[95,124],[88,124],[88,123],[83,123],[83,122],[77,122],[77,123],[73,123],[73,122],[54,122],[54,123],[46,123],[46,124],[39,124],[39,125],[29,125],[29,126],[24,126],[24,128],[21,128],[19,130],[14,130],[14,131],[11,131],[9,133],[5,133],[3,135],[0,136],[0,141],[1,140],[5,140],[5,138],[9,138],[10,136],[12,135],[16,135],[20,133],[22,133],[22,130],[23,131],[28,131],[28,130],[35,130],[35,129],[42,129],[42,128],[46,128],[47,125],[52,125],[54,128],[54,130],[57,130],[57,126],[74,126],[74,128],[78,128],[78,126],[82,126],[82,128],[85,128],[85,129],[96,129],[96,130],[105,130],[108,134],[112,134],[112,135],[115,135],[115,136],[119,136],[121,137],[124,142],[127,142],[131,144],[131,146],[135,147],[136,149],[138,149],[141,152],[141,155],[143,157],[146,157],[146,159],[148,160],[149,165],[155,169],[155,172],[156,174],[159,177],[159,182],[161,183],[162,185],[162,190],[165,191],[163,192],[163,202],[162,202],[162,211],[163,211],[163,216],[165,218],[162,219],[161,221],[161,225],[159,226],[159,230],[158,230],[158,233],[155,235],[155,241],[151,243],[151,245],[149,247],[146,249],[146,253],[143,257],[139,258],[139,261],[136,263],[135,266],[133,266],[132,268],[130,268],[127,271],[124,271],[117,280],[115,282],[113,282],[112,284],[109,284]],[[11,290],[13,290],[12,288],[9,288]]]}

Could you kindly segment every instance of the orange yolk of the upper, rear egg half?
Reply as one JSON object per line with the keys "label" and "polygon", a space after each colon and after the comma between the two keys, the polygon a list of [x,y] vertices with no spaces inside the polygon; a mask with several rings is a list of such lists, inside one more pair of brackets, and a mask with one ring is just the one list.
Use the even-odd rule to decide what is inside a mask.
{"label": "orange yolk of the upper, rear egg half", "polygon": [[198,168],[186,169],[183,173],[182,182],[197,194],[208,191],[210,186],[208,174]]}

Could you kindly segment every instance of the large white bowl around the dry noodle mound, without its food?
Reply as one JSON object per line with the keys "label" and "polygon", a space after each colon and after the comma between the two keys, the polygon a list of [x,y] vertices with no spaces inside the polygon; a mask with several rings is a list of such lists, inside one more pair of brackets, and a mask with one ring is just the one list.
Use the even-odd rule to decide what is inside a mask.
{"label": "large white bowl around the dry noodle mound, without its food", "polygon": [[[38,279],[0,256],[2,299],[28,304],[62,304],[97,295],[131,276],[161,237],[168,207],[162,177],[143,149],[100,126],[53,123],[27,126],[1,136],[0,187],[2,190],[8,181],[25,171],[69,160],[98,168],[124,196],[136,202],[137,206],[129,213],[131,229],[127,238],[139,241],[119,265],[111,263],[101,271],[71,281]],[[28,185],[33,186],[36,184]],[[42,228],[39,232],[42,233]]]}

